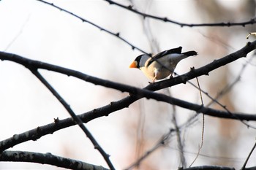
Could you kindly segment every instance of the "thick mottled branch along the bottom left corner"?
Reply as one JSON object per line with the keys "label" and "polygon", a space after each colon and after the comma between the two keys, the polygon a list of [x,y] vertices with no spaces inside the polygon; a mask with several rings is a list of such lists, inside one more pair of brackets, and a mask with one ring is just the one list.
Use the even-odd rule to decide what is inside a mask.
{"label": "thick mottled branch along the bottom left corner", "polygon": [[65,169],[108,170],[103,166],[96,166],[90,163],[60,157],[52,155],[51,153],[43,154],[39,152],[4,151],[0,154],[0,161],[42,163]]}

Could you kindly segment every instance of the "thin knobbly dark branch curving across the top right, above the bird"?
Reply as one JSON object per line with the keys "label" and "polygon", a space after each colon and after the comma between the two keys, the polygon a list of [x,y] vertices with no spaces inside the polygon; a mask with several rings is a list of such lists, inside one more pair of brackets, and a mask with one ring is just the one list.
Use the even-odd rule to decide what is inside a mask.
{"label": "thin knobbly dark branch curving across the top right, above the bird", "polygon": [[111,0],[104,0],[104,1],[108,1],[109,4],[115,4],[116,6],[118,7],[121,7],[121,8],[124,8],[124,9],[127,9],[131,12],[134,12],[138,15],[141,15],[143,18],[153,18],[153,19],[156,19],[156,20],[161,20],[161,21],[164,21],[166,23],[173,23],[173,24],[176,24],[178,26],[181,26],[181,27],[184,27],[184,26],[188,26],[188,27],[198,27],[198,26],[227,26],[227,27],[230,27],[230,26],[246,26],[246,25],[252,25],[252,24],[255,24],[256,23],[256,20],[254,18],[252,18],[251,20],[248,20],[248,21],[244,21],[244,22],[240,22],[240,23],[230,23],[230,22],[227,22],[227,23],[181,23],[181,22],[178,22],[176,20],[170,20],[166,17],[157,17],[155,15],[149,15],[149,14],[146,14],[146,13],[143,13],[143,12],[140,12],[136,9],[133,9],[131,5],[129,6],[125,6],[123,4],[119,4],[115,1],[111,1]]}

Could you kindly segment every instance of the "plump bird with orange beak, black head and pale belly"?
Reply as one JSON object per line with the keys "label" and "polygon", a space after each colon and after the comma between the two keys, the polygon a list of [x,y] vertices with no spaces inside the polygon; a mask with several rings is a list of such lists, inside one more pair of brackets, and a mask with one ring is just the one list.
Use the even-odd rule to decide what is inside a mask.
{"label": "plump bird with orange beak, black head and pale belly", "polygon": [[197,55],[195,51],[181,53],[181,50],[182,47],[177,47],[162,51],[154,56],[148,54],[138,55],[135,61],[132,61],[129,65],[129,68],[140,69],[153,83],[155,80],[165,79],[169,75],[171,78],[179,61],[189,56]]}

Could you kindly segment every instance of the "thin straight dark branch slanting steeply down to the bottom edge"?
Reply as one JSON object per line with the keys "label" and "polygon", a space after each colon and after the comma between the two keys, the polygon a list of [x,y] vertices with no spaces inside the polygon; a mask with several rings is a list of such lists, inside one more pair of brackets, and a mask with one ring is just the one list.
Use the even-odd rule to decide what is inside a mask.
{"label": "thin straight dark branch slanting steeply down to the bottom edge", "polygon": [[114,170],[115,168],[109,159],[110,155],[108,155],[102,149],[102,147],[99,145],[97,140],[94,139],[94,136],[92,136],[91,132],[86,128],[85,125],[83,125],[83,121],[80,120],[80,118],[77,115],[75,115],[75,112],[73,112],[71,107],[69,107],[69,104],[67,104],[67,102],[64,100],[64,98],[62,98],[59,95],[59,93],[50,85],[50,83],[47,80],[45,80],[45,78],[42,77],[41,74],[39,74],[37,69],[30,69],[30,70],[42,82],[42,84],[45,85],[45,87],[48,88],[48,90],[50,90],[51,93],[53,93],[53,96],[55,96],[59,100],[59,102],[64,106],[64,108],[67,109],[67,112],[69,112],[69,115],[71,115],[71,117],[75,121],[75,123],[80,126],[80,128],[83,130],[83,132],[86,134],[86,136],[91,140],[91,143],[94,144],[94,148],[99,150],[99,152],[105,159],[106,163],[108,164],[109,168],[111,170]]}

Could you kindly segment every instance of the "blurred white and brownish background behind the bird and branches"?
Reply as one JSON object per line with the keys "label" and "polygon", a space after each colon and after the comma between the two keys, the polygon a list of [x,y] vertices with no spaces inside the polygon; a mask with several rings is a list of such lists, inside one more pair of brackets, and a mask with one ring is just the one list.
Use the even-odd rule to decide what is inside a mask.
{"label": "blurred white and brownish background behind the bird and branches", "polygon": [[[120,36],[147,53],[158,53],[174,47],[183,51],[195,50],[199,55],[187,58],[176,67],[177,74],[189,72],[215,59],[241,49],[255,36],[255,25],[232,27],[181,27],[129,12],[106,1],[73,0],[50,1],[86,20]],[[167,17],[181,23],[243,22],[255,18],[255,1],[118,1],[132,5],[140,12]],[[147,78],[138,69],[129,69],[141,52],[121,42],[116,36],[83,23],[59,9],[36,0],[0,1],[0,50],[37,61],[64,66],[105,80],[143,88]],[[127,93],[92,85],[55,72],[40,70],[46,80],[70,104],[76,114],[118,101]],[[233,84],[218,101],[232,112],[256,112],[256,59],[254,52],[247,58],[198,77],[200,88],[215,97]],[[29,131],[39,125],[53,123],[54,118],[69,117],[59,101],[34,77],[28,69],[10,61],[0,61],[0,140]],[[197,85],[196,80],[191,82]],[[176,85],[159,90],[195,104],[200,103],[199,91],[190,85]],[[211,100],[203,95],[205,105]],[[222,109],[217,104],[210,107]],[[134,169],[177,169],[189,166],[195,159],[202,136],[202,115],[159,101],[141,99],[129,108],[86,123],[91,133],[111,155],[116,169],[127,169],[146,151],[151,150],[163,135],[176,125],[175,134],[168,136],[165,145],[151,153]],[[192,123],[187,120],[192,118]],[[249,122],[256,125],[255,122]],[[193,166],[221,165],[241,168],[255,143],[255,130],[235,120],[205,117],[203,147]],[[78,126],[65,128],[35,142],[18,144],[10,150],[51,152],[86,163],[108,168],[97,150]],[[256,166],[253,152],[247,166]],[[254,160],[254,161],[253,161]],[[36,163],[1,162],[0,169],[60,169]]]}

